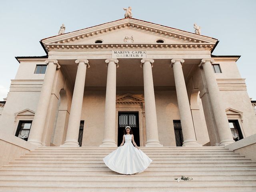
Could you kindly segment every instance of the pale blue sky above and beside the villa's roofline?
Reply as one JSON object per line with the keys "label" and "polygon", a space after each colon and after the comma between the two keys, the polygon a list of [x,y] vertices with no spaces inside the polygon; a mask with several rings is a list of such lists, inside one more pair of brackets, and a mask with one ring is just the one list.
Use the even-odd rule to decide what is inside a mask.
{"label": "pale blue sky above and beside the villa's roofline", "polygon": [[65,32],[124,18],[133,18],[218,39],[214,55],[241,55],[237,66],[256,100],[256,0],[1,0],[0,101],[7,96],[19,63],[15,56],[46,55],[39,41]]}

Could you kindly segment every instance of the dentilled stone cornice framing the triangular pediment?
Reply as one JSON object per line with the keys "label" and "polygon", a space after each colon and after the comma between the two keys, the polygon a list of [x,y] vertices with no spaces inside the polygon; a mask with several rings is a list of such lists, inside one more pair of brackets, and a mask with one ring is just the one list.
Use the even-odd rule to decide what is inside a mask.
{"label": "dentilled stone cornice framing the triangular pediment", "polygon": [[[113,44],[83,44],[82,39],[100,36],[102,34],[115,32],[122,29],[133,29],[140,32],[154,34],[159,38],[178,40],[179,43],[114,43]],[[210,48],[212,49],[217,40],[214,38],[193,34],[150,22],[126,18],[101,24],[98,26],[53,36],[42,40],[45,48],[52,49],[84,49],[84,48]]]}

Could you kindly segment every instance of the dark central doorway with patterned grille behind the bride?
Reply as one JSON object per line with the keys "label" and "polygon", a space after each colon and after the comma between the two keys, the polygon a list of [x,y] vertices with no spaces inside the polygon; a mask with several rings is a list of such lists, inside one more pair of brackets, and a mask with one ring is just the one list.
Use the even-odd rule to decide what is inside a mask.
{"label": "dark central doorway with patterned grille behind the bride", "polygon": [[134,141],[140,146],[139,112],[118,112],[118,146],[122,143],[126,126],[131,127]]}

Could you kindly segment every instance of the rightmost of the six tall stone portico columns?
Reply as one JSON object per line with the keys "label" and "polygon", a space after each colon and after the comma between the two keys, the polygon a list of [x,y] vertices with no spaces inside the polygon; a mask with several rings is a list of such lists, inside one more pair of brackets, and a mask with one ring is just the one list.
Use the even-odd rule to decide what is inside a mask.
{"label": "rightmost of the six tall stone portico columns", "polygon": [[199,67],[202,66],[204,69],[206,84],[212,103],[212,110],[220,136],[220,146],[226,146],[230,143],[233,143],[234,140],[228,124],[226,112],[220,104],[220,90],[212,69],[213,62],[214,60],[210,58],[202,59]]}

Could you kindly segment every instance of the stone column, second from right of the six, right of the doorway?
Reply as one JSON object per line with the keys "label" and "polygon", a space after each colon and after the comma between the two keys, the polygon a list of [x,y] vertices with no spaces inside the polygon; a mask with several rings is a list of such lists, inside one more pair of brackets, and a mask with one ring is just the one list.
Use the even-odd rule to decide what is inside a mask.
{"label": "stone column, second from right of the six, right of the doorway", "polygon": [[180,112],[180,122],[184,139],[182,146],[202,146],[196,141],[194,124],[188,101],[188,93],[182,71],[182,63],[184,63],[183,59],[171,60],[171,67],[173,68],[174,72],[176,94]]}

